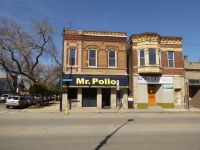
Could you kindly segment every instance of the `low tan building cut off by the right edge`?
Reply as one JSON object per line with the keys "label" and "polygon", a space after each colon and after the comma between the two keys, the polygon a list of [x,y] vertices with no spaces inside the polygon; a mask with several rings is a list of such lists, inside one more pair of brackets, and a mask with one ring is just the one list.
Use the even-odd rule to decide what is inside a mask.
{"label": "low tan building cut off by the right edge", "polygon": [[189,95],[189,98],[192,100],[200,90],[200,62],[190,62],[188,56],[184,56],[184,68],[185,83],[187,87],[186,95]]}

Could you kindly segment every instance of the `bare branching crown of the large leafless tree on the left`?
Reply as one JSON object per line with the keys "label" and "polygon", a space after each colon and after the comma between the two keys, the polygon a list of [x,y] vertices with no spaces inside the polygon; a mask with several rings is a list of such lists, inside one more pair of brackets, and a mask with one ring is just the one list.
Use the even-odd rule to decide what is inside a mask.
{"label": "bare branching crown of the large leafless tree on the left", "polygon": [[[10,76],[21,75],[39,83],[48,71],[39,63],[42,57],[58,54],[54,45],[54,28],[49,21],[33,20],[31,30],[7,17],[0,18],[0,65]],[[56,67],[55,67],[56,68]]]}

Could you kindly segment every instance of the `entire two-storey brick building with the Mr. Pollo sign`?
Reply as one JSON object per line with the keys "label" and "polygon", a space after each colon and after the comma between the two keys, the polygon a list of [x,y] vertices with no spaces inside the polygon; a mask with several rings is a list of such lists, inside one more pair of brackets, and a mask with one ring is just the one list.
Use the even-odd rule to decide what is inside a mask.
{"label": "entire two-storey brick building with the Mr. Pollo sign", "polygon": [[126,39],[125,32],[64,31],[62,109],[68,100],[72,108],[116,108],[120,100],[127,107]]}

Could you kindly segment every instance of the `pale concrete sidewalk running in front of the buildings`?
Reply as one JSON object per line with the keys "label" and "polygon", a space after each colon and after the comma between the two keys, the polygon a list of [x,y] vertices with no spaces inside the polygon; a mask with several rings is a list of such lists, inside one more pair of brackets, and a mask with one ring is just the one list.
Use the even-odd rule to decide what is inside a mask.
{"label": "pale concrete sidewalk running in front of the buildings", "polygon": [[[26,108],[20,112],[28,113],[65,113],[66,110],[60,112],[60,104],[58,101],[50,102],[49,106],[44,108]],[[72,108],[68,110],[69,113],[121,113],[121,109],[99,109],[99,108]],[[163,109],[161,107],[151,107],[148,109],[124,109],[124,113],[171,113],[171,114],[184,114],[184,113],[199,113],[200,108],[188,109]]]}

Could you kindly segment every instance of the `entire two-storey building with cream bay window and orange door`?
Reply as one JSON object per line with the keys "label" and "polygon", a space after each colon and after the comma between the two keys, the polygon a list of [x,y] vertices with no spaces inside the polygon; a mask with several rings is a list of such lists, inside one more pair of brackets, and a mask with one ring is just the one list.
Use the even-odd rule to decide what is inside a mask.
{"label": "entire two-storey building with cream bay window and orange door", "polygon": [[129,87],[133,89],[130,93],[135,108],[183,107],[182,38],[148,32],[133,34],[127,42],[127,48]]}

